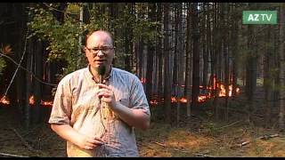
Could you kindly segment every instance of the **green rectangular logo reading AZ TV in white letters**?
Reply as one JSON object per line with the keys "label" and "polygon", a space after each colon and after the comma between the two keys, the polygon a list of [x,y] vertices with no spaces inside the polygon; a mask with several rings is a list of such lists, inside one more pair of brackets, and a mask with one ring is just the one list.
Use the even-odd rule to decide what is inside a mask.
{"label": "green rectangular logo reading AZ TV in white letters", "polygon": [[242,24],[277,24],[277,11],[243,11]]}

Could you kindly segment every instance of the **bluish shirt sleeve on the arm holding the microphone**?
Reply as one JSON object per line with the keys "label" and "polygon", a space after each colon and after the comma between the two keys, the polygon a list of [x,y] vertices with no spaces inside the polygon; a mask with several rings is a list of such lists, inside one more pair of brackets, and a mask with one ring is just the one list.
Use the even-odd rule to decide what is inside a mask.
{"label": "bluish shirt sleeve on the arm holding the microphone", "polygon": [[143,112],[151,116],[151,111],[149,107],[148,100],[143,91],[143,86],[141,81],[135,76],[134,84],[131,89],[131,105],[133,108],[142,108]]}

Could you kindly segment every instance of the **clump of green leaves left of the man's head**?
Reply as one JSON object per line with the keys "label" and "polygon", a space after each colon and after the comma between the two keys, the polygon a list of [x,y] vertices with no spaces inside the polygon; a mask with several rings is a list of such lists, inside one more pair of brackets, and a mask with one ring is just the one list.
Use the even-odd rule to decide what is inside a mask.
{"label": "clump of green leaves left of the man's head", "polygon": [[[72,4],[75,8],[74,4]],[[72,8],[72,7],[71,7]],[[77,68],[77,60],[82,55],[78,55],[78,38],[82,35],[83,29],[80,28],[76,19],[66,16],[66,20],[60,23],[55,20],[52,12],[43,8],[29,8],[32,20],[28,22],[28,27],[32,28],[34,35],[45,39],[49,45],[46,50],[49,52],[48,60],[65,60],[67,68],[62,68],[63,75],[67,75]],[[72,11],[75,12],[72,9]]]}

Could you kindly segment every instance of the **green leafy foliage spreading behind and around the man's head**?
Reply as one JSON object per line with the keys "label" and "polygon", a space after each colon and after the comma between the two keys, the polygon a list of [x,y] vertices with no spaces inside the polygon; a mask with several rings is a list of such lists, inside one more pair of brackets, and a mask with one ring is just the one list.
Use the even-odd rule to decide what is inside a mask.
{"label": "green leafy foliage spreading behind and around the man's head", "polygon": [[[79,55],[78,51],[82,46],[78,43],[79,36],[84,36],[83,33],[97,30],[99,28],[110,30],[112,34],[115,29],[124,31],[114,37],[116,44],[115,66],[122,68],[124,59],[131,55],[132,49],[126,52],[126,35],[129,37],[127,43],[134,43],[139,38],[155,42],[155,37],[158,36],[155,28],[159,25],[158,22],[146,19],[145,14],[148,4],[135,4],[138,13],[131,12],[129,4],[116,4],[115,10],[118,10],[117,16],[111,16],[110,4],[108,3],[68,3],[64,12],[64,21],[58,21],[54,15],[59,11],[54,11],[59,4],[48,4],[48,9],[42,8],[40,5],[28,8],[29,22],[28,28],[33,30],[33,35],[48,42],[46,50],[48,51],[48,60],[66,61],[67,66],[62,68],[62,76],[77,68],[77,60],[83,55]],[[80,27],[79,12],[80,6],[85,6],[89,14],[88,24],[83,23]],[[84,39],[84,38],[83,38]],[[154,44],[154,43],[153,43]],[[79,66],[85,66],[85,61],[82,60]]]}

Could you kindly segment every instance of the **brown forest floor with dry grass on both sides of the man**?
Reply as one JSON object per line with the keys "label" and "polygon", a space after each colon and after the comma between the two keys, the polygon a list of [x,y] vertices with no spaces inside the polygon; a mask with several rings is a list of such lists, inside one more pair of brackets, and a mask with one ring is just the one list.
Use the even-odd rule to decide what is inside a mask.
{"label": "brown forest floor with dry grass on both sides of the man", "polygon": [[[205,111],[205,110],[204,110]],[[0,156],[66,156],[66,143],[47,123],[27,131],[10,108],[0,108]],[[229,121],[207,114],[181,116],[179,124],[151,120],[147,131],[135,131],[140,156],[285,156],[285,134],[272,124],[265,128],[263,116],[248,124],[232,112]],[[258,119],[259,118],[259,119]],[[274,121],[276,122],[276,121]]]}

